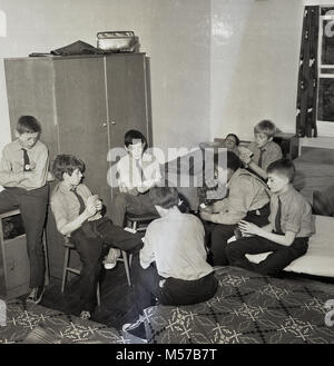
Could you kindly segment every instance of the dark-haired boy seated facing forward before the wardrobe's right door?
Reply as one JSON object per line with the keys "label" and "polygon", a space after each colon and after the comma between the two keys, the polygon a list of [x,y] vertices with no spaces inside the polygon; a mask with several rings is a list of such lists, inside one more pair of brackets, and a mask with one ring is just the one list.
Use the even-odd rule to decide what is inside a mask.
{"label": "dark-haired boy seated facing forward before the wardrobe's right door", "polygon": [[119,194],[111,202],[111,219],[124,226],[126,212],[135,215],[156,214],[149,189],[161,179],[160,166],[154,156],[146,152],[145,136],[137,130],[125,135],[127,155],[117,162]]}

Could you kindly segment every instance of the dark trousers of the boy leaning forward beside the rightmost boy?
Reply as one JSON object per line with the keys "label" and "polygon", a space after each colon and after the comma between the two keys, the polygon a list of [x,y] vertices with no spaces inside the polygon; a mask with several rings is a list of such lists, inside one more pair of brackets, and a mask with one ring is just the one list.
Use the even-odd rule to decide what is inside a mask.
{"label": "dark trousers of the boy leaning forward beside the rightmost boy", "polygon": [[[253,222],[259,227],[269,224],[269,204],[264,206],[257,211],[249,211],[244,220]],[[213,266],[227,266],[228,258],[226,255],[227,240],[234,236],[234,230],[237,228],[237,224],[213,224],[210,230],[210,263]]]}

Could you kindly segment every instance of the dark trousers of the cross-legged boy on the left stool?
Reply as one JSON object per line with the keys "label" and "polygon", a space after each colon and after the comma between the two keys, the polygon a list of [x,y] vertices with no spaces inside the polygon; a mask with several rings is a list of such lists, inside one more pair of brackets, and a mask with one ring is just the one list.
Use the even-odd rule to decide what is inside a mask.
{"label": "dark trousers of the cross-legged boy on the left stool", "polygon": [[71,233],[72,243],[82,264],[80,274],[80,308],[92,311],[96,306],[96,289],[102,257],[110,247],[127,251],[139,250],[143,234],[131,234],[115,226],[108,217],[86,221]]}

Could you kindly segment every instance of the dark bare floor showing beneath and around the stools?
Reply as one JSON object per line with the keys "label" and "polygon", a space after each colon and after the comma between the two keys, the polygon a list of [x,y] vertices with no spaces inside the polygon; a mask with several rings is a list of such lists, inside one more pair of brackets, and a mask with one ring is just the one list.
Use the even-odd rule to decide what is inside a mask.
{"label": "dark bare floor showing beneath and around the stools", "polygon": [[[65,294],[60,290],[60,280],[51,278],[40,305],[78,315],[79,276],[69,277]],[[101,305],[96,307],[92,320],[108,327],[121,329],[125,323],[136,319],[134,309],[134,287],[126,279],[124,264],[118,263],[114,269],[104,270],[101,280]]]}

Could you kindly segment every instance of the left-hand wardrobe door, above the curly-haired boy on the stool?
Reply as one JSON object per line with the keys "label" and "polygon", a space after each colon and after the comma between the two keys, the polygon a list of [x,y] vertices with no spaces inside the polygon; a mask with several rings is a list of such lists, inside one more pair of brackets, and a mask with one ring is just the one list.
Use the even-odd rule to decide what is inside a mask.
{"label": "left-hand wardrobe door, above the curly-haired boy on the stool", "polygon": [[86,164],[84,182],[104,204],[110,204],[107,184],[108,133],[102,57],[55,60],[59,150]]}

